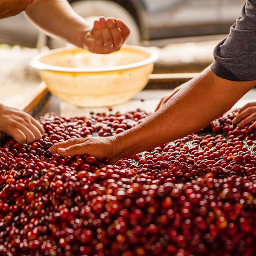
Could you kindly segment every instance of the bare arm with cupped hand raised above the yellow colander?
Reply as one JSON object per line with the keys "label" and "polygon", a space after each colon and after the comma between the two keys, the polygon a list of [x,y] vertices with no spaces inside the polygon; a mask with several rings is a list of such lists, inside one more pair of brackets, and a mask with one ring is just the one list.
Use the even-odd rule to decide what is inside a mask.
{"label": "bare arm with cupped hand raised above the yellow colander", "polygon": [[130,33],[122,20],[113,18],[101,17],[92,28],[67,0],[34,0],[26,15],[47,34],[95,53],[119,50]]}

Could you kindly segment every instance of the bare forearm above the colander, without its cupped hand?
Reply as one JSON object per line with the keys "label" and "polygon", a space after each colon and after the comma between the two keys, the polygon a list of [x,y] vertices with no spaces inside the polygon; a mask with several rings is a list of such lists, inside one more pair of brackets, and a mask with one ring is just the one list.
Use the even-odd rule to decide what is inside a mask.
{"label": "bare forearm above the colander, without its cupped hand", "polygon": [[34,0],[26,10],[28,18],[49,35],[83,48],[83,38],[91,29],[66,0]]}

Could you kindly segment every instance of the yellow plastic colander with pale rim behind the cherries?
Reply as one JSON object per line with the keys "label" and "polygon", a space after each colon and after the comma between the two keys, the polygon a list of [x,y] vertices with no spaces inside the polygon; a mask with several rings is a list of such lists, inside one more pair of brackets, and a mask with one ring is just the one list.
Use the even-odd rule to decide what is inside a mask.
{"label": "yellow plastic colander with pale rim behind the cherries", "polygon": [[79,107],[102,107],[126,102],[141,91],[156,59],[154,51],[138,46],[123,46],[111,54],[61,48],[37,55],[31,65],[61,100]]}

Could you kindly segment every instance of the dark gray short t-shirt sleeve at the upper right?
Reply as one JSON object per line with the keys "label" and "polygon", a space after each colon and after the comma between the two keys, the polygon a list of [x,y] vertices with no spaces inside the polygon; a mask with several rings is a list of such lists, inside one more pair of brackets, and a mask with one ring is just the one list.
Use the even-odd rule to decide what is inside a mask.
{"label": "dark gray short t-shirt sleeve at the upper right", "polygon": [[256,80],[256,0],[247,0],[229,36],[214,49],[213,73],[231,81]]}

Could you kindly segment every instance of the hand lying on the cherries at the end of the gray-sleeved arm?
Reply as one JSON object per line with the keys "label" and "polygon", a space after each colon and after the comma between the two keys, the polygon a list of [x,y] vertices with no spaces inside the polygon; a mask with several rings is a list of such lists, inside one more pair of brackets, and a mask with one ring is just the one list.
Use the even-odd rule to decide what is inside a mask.
{"label": "hand lying on the cherries at the end of the gray-sleeved arm", "polygon": [[49,150],[62,157],[88,154],[99,160],[110,158],[111,162],[118,160],[120,152],[115,136],[69,139],[53,145]]}

